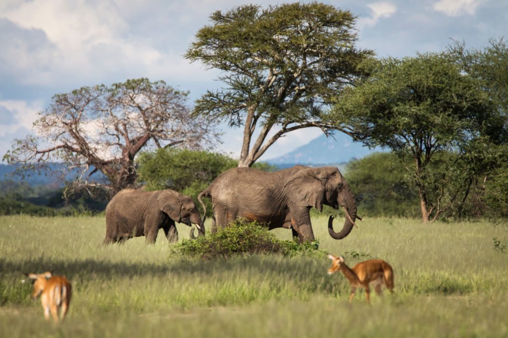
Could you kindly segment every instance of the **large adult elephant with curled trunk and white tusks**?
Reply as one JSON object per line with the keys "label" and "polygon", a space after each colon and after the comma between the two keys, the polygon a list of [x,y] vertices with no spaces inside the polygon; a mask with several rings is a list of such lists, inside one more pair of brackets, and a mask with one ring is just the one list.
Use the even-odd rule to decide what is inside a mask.
{"label": "large adult elephant with curled trunk and white tusks", "polygon": [[[216,225],[226,226],[236,217],[266,222],[270,229],[289,228],[300,242],[313,241],[309,210],[323,205],[343,207],[346,217],[342,230],[328,232],[334,239],[346,237],[355,225],[355,196],[335,167],[292,168],[266,172],[252,168],[234,168],[220,174],[198,200],[211,197]],[[205,210],[206,213],[206,210]]]}

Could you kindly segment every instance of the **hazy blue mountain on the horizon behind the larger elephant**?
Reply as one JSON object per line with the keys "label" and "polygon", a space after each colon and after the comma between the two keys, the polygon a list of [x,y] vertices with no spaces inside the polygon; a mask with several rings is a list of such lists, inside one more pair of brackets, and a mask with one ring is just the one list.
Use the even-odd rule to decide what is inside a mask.
{"label": "hazy blue mountain on the horizon behind the larger elephant", "polygon": [[333,137],[322,135],[304,144],[294,151],[273,158],[266,162],[281,167],[290,167],[296,164],[318,165],[344,165],[351,159],[360,159],[373,152],[382,151],[381,148],[369,149],[360,142],[353,142],[350,136],[344,133],[336,133]]}

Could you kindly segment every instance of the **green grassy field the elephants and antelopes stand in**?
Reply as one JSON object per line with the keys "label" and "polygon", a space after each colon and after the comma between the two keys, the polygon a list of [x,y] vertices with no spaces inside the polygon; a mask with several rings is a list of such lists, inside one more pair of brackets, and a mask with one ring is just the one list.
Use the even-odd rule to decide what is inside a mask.
{"label": "green grassy field the elephants and antelopes stand in", "polygon": [[[350,266],[390,262],[396,293],[373,293],[368,306],[357,292],[349,304],[349,285],[327,275],[327,258],[200,260],[171,254],[162,231],[153,246],[144,238],[102,246],[103,217],[0,217],[0,337],[508,336],[506,224],[371,218],[336,241],[326,218],[312,222],[320,247]],[[24,272],[46,270],[73,285],[59,325],[45,322],[31,284],[21,283]]]}

